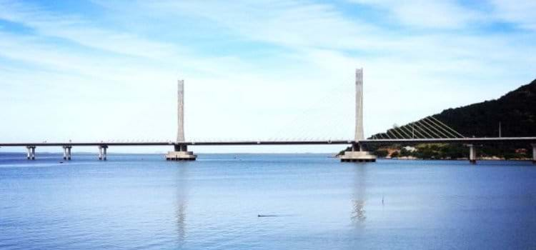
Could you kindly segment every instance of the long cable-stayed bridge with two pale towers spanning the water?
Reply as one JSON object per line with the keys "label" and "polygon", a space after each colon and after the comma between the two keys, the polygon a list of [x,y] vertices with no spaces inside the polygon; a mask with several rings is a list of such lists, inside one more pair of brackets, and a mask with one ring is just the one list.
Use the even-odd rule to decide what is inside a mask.
{"label": "long cable-stayed bridge with two pale towers spanning the water", "polygon": [[450,128],[433,116],[416,121],[406,126],[395,127],[386,133],[377,134],[370,139],[364,138],[363,131],[363,74],[362,69],[356,71],[356,105],[354,139],[302,139],[302,140],[244,140],[244,141],[186,141],[184,137],[184,81],[178,82],[177,100],[177,140],[176,141],[79,141],[79,142],[16,142],[0,143],[0,146],[24,146],[27,149],[27,159],[36,159],[37,146],[61,146],[64,149],[64,159],[71,160],[73,146],[96,146],[99,149],[99,160],[107,159],[109,146],[173,146],[174,151],[166,154],[167,160],[193,161],[197,156],[188,151],[188,146],[239,146],[239,145],[347,145],[341,161],[376,161],[376,156],[364,147],[374,144],[464,144],[469,148],[469,160],[476,163],[476,145],[500,143],[524,143],[532,146],[532,162],[536,164],[536,136],[534,137],[466,137]]}

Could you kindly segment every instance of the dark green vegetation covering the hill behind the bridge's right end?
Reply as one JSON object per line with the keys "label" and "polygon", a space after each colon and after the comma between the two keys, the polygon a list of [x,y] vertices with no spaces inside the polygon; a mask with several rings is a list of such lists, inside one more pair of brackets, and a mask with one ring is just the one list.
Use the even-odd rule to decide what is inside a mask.
{"label": "dark green vegetation covering the hill behind the bridge's right end", "polygon": [[[536,136],[536,79],[500,99],[445,109],[433,117],[467,137]],[[371,138],[381,138],[382,134],[375,134]],[[460,159],[467,158],[469,154],[463,145],[421,144],[416,148],[410,153],[402,151],[400,145],[374,146],[369,150],[384,156],[387,149],[391,154],[392,149],[397,149],[397,156],[419,159]],[[532,148],[526,144],[484,145],[477,150],[479,156],[503,159],[527,158],[530,157],[530,151]]]}

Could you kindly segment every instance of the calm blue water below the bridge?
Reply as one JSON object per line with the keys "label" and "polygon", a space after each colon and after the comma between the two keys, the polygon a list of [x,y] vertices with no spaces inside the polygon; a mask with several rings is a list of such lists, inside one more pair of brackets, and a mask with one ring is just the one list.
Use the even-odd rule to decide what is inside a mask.
{"label": "calm blue water below the bridge", "polygon": [[38,157],[0,154],[0,249],[536,249],[530,162]]}

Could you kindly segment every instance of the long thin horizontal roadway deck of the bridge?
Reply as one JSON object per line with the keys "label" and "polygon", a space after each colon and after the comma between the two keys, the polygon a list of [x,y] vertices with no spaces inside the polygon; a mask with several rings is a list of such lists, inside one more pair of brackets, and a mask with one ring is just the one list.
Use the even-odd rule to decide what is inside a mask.
{"label": "long thin horizontal roadway deck of the bridge", "polygon": [[354,140],[311,140],[311,141],[146,141],[146,142],[16,142],[0,143],[0,146],[239,146],[239,145],[327,145],[327,144],[495,144],[495,143],[536,143],[536,137],[467,137],[438,139],[365,139]]}

